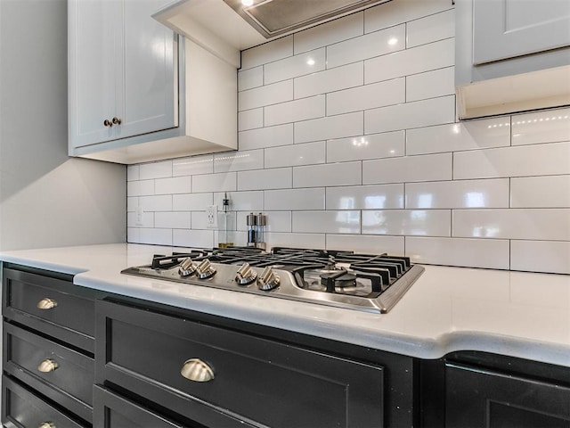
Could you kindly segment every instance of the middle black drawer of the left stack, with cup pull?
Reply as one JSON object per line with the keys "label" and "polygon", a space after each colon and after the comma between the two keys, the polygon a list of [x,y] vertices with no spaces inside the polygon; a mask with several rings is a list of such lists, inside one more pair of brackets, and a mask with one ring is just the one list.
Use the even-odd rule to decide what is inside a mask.
{"label": "middle black drawer of the left stack, with cup pull", "polygon": [[94,359],[4,322],[4,371],[87,421]]}

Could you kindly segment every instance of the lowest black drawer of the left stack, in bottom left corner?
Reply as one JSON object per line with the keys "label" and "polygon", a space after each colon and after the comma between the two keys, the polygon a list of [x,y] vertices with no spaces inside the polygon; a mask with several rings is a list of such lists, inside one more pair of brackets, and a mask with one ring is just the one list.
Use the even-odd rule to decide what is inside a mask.
{"label": "lowest black drawer of the left stack, in bottom left corner", "polygon": [[2,423],[7,428],[38,428],[52,423],[57,428],[85,428],[76,419],[62,414],[33,392],[2,376],[3,406]]}

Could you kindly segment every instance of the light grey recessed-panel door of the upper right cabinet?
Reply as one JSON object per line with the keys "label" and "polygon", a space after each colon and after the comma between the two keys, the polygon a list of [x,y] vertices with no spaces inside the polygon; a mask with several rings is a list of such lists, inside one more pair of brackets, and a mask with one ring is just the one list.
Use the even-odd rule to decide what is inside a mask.
{"label": "light grey recessed-panel door of the upper right cabinet", "polygon": [[568,0],[474,0],[475,64],[570,45]]}

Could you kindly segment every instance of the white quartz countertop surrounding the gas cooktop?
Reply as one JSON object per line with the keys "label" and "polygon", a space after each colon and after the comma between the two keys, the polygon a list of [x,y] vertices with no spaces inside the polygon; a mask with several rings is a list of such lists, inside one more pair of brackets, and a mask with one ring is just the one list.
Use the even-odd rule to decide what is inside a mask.
{"label": "white quartz countertop surrounding the gas cooktop", "polygon": [[121,275],[152,254],[108,244],[0,252],[0,260],[73,274],[74,283],[179,308],[418,358],[482,350],[570,367],[570,276],[426,266],[387,314]]}

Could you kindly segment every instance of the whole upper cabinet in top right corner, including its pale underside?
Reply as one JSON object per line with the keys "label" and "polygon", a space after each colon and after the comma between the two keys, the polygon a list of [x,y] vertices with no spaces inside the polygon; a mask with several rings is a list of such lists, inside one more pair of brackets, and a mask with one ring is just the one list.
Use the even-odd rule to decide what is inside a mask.
{"label": "whole upper cabinet in top right corner, including its pale underside", "polygon": [[460,119],[570,103],[569,0],[457,0]]}

